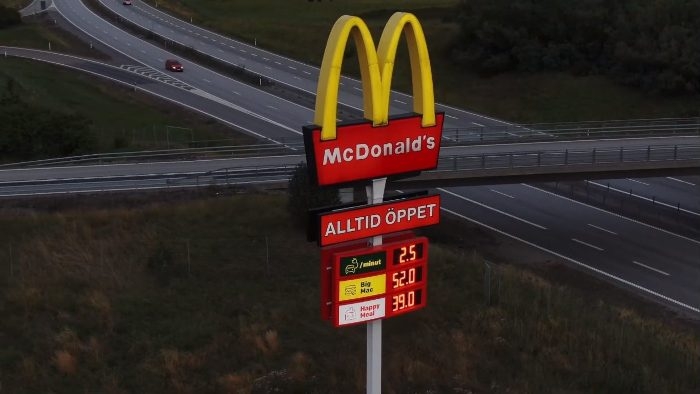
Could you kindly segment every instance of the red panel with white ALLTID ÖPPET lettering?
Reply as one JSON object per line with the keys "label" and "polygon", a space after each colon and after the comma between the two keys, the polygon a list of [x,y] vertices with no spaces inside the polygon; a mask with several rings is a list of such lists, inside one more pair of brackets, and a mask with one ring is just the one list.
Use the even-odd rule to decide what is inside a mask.
{"label": "red panel with white ALLTID \u00d6PPET lettering", "polygon": [[395,233],[440,222],[440,195],[365,205],[320,215],[319,244]]}

